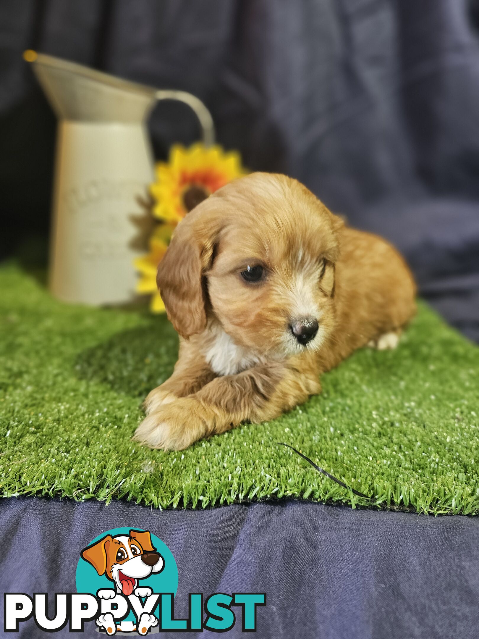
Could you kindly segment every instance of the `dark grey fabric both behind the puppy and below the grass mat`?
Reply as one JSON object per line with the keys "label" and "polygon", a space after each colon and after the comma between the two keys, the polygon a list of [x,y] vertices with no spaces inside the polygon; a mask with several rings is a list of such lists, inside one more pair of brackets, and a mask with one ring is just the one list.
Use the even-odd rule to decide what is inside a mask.
{"label": "dark grey fabric both behind the puppy and below the grass mat", "polygon": [[[479,339],[479,0],[1,0],[0,254],[49,224],[54,118],[27,47],[196,93],[221,144],[397,243]],[[157,157],[198,135],[176,105],[150,128]],[[479,520],[459,516],[8,500],[0,587],[69,586],[79,548],[120,525],[163,537],[183,592],[264,587],[262,638],[478,635]]]}

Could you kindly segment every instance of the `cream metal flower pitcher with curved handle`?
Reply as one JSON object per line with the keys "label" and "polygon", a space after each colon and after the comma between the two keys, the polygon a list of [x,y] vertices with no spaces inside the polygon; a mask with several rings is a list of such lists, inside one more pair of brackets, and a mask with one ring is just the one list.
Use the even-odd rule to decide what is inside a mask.
{"label": "cream metal flower pitcher with curved handle", "polygon": [[203,141],[213,121],[198,98],[158,91],[86,66],[29,52],[59,118],[50,248],[50,290],[66,302],[132,300],[138,256],[137,201],[153,180],[146,120],[157,100],[181,100],[199,118]]}

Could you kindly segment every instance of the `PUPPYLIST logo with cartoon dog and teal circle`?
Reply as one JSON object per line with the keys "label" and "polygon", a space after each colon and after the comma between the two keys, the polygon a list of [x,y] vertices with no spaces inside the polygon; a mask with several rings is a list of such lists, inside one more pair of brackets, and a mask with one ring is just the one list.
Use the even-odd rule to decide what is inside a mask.
{"label": "PUPPYLIST logo with cartoon dog and teal circle", "polygon": [[148,530],[114,528],[99,535],[80,551],[75,578],[76,593],[54,594],[51,618],[47,593],[6,592],[4,631],[17,633],[20,624],[33,617],[36,626],[49,633],[67,624],[70,632],[84,632],[89,622],[107,635],[227,632],[238,622],[243,632],[255,632],[257,608],[266,606],[262,592],[217,592],[207,597],[190,592],[188,618],[175,619],[176,561],[168,546]]}

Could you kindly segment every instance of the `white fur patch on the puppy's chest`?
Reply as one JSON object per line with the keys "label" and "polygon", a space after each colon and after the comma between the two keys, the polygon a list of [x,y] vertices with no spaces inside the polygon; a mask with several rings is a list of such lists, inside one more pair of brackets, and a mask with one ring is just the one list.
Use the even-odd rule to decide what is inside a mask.
{"label": "white fur patch on the puppy's chest", "polygon": [[204,357],[218,375],[233,375],[261,361],[244,346],[235,344],[221,327],[211,329]]}

